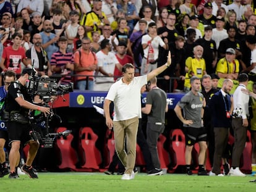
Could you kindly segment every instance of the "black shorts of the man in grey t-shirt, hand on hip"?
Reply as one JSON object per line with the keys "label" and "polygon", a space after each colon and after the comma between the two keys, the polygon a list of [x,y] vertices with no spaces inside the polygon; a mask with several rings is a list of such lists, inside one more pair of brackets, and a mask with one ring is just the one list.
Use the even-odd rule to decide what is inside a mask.
{"label": "black shorts of the man in grey t-shirt, hand on hip", "polygon": [[198,141],[207,141],[207,130],[205,127],[184,127],[186,145],[193,146]]}

